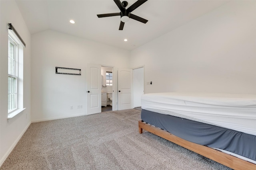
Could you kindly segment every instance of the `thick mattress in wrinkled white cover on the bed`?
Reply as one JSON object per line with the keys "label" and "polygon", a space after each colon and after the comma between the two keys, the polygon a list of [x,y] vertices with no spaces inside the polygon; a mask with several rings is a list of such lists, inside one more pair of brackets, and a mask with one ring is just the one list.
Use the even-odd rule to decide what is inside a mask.
{"label": "thick mattress in wrinkled white cover on the bed", "polygon": [[152,93],[141,98],[142,109],[256,135],[256,95]]}

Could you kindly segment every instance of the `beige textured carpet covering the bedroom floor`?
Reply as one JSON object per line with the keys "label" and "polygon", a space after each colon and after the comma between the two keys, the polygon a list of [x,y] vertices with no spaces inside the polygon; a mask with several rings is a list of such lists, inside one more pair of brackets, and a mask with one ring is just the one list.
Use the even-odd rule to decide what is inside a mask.
{"label": "beige textured carpet covering the bedroom floor", "polygon": [[230,170],[152,133],[140,111],[32,123],[0,170]]}

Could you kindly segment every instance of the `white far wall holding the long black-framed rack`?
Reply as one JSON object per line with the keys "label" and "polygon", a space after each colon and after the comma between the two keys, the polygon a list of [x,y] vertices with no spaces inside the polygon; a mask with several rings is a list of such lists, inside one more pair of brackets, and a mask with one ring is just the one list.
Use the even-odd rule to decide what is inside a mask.
{"label": "white far wall holding the long black-framed rack", "polygon": [[[130,63],[130,51],[51,30],[32,35],[32,56],[32,121],[86,114],[87,63]],[[79,68],[82,75],[55,74],[56,66]]]}

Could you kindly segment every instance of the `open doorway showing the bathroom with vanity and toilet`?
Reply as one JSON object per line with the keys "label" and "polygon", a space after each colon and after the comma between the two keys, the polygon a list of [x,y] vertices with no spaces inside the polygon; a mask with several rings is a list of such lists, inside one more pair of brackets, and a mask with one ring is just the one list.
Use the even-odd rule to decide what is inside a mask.
{"label": "open doorway showing the bathroom with vanity and toilet", "polygon": [[113,67],[101,66],[101,112],[113,109]]}

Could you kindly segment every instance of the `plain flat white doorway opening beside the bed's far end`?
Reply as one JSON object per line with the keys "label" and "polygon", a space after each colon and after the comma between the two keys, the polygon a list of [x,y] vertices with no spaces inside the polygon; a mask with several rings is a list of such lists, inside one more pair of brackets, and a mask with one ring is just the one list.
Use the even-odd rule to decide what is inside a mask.
{"label": "plain flat white doorway opening beside the bed's far end", "polygon": [[144,67],[133,69],[133,107],[141,107],[144,94]]}

